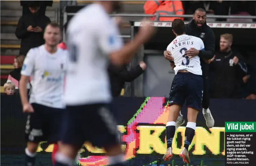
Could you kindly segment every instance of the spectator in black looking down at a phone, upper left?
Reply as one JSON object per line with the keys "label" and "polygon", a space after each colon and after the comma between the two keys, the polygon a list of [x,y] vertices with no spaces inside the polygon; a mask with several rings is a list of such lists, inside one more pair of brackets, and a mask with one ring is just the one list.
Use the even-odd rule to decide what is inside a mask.
{"label": "spectator in black looking down at a phone, upper left", "polygon": [[21,39],[20,54],[26,56],[31,48],[44,44],[43,30],[51,20],[47,16],[40,16],[40,3],[33,1],[29,4],[30,14],[21,16],[15,35]]}

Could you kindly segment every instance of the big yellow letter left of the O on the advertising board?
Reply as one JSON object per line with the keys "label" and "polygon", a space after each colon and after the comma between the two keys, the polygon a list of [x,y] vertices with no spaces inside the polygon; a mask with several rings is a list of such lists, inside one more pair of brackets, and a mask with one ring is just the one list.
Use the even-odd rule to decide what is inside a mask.
{"label": "big yellow letter left of the O on the advertising board", "polygon": [[153,152],[151,148],[157,153],[165,153],[166,145],[159,138],[165,130],[165,126],[138,126],[137,129],[140,131],[140,148],[137,153],[150,154]]}

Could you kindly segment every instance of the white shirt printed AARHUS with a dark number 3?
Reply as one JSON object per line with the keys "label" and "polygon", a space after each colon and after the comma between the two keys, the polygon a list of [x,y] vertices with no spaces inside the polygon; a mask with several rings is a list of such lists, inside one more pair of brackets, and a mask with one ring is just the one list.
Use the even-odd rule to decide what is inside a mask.
{"label": "white shirt printed AARHUS with a dark number 3", "polygon": [[189,50],[190,48],[204,50],[204,43],[200,38],[183,34],[176,37],[168,45],[167,51],[171,52],[176,66],[174,68],[175,74],[179,70],[187,70],[190,73],[202,75],[199,56],[194,56],[190,60],[184,56],[185,50]]}

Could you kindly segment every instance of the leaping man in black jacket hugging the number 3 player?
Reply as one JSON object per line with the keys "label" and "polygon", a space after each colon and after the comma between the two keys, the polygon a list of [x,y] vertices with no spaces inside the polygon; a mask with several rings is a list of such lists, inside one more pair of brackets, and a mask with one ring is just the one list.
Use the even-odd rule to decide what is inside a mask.
{"label": "leaping man in black jacket hugging the number 3 player", "polygon": [[[210,97],[209,97],[209,82],[208,82],[208,73],[209,73],[209,63],[214,56],[215,52],[215,34],[213,30],[206,25],[206,12],[202,8],[196,9],[193,20],[186,24],[185,26],[186,34],[192,35],[202,39],[204,42],[205,51],[199,51],[195,48],[190,48],[185,51],[185,55],[188,57],[199,56],[202,68],[202,77],[203,77],[203,115],[206,120],[206,125],[209,128],[214,126],[214,119],[212,117],[211,111],[209,110]],[[164,51],[164,56],[166,60],[173,61],[173,58],[170,55],[170,52]],[[183,115],[180,113],[177,121],[176,127],[183,125],[185,120],[183,119]]]}

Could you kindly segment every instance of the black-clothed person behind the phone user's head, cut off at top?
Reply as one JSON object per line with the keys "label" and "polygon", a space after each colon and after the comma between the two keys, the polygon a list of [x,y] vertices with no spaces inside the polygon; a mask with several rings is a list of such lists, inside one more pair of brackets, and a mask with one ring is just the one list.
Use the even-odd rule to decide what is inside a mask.
{"label": "black-clothed person behind the phone user's head, cut off at top", "polygon": [[[23,15],[29,15],[31,13],[29,9],[30,3],[33,1],[20,1],[20,5],[22,6],[22,16]],[[40,9],[39,9],[39,15],[44,16],[46,7],[47,6],[52,6],[53,1],[38,1],[40,4]]]}

